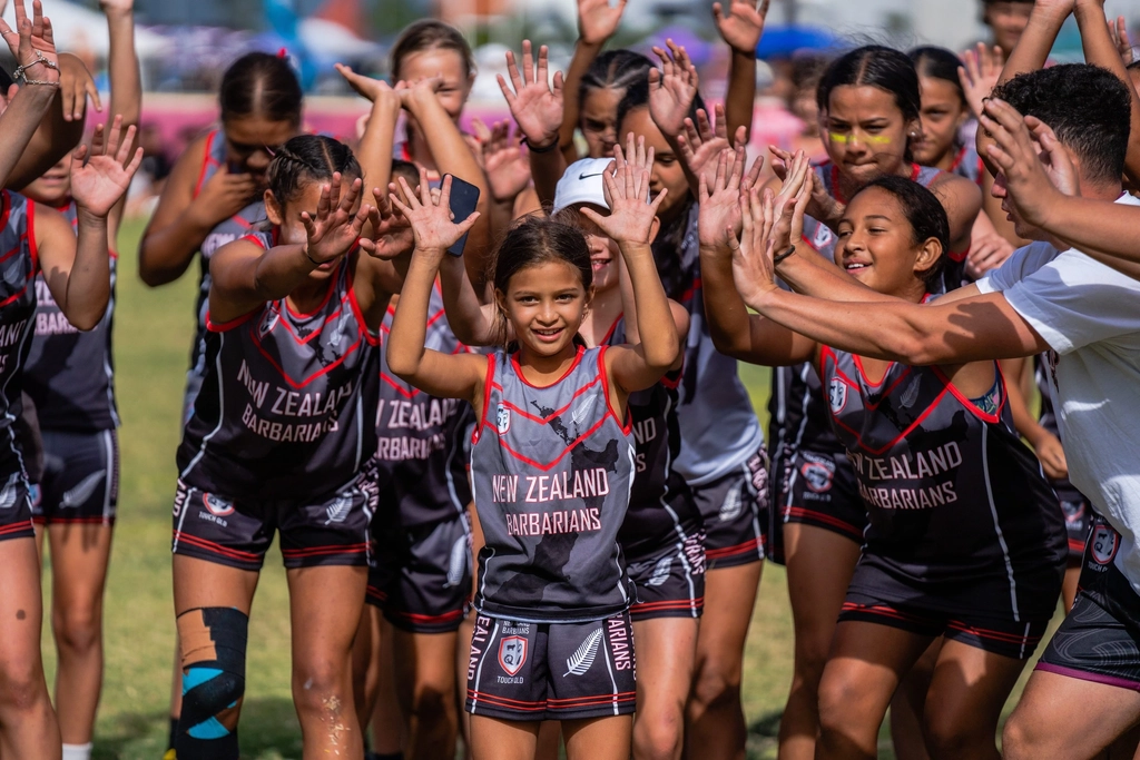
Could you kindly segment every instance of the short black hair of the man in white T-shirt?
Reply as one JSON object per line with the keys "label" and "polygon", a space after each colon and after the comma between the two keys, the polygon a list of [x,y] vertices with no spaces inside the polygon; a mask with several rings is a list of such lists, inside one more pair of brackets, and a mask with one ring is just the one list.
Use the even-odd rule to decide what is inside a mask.
{"label": "short black hair of the man in white T-shirt", "polygon": [[1085,177],[1108,181],[1124,173],[1132,128],[1127,87],[1108,70],[1065,64],[1018,74],[993,97],[1048,124],[1080,157]]}

